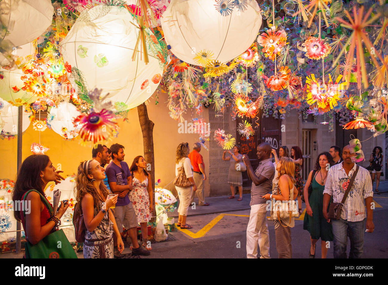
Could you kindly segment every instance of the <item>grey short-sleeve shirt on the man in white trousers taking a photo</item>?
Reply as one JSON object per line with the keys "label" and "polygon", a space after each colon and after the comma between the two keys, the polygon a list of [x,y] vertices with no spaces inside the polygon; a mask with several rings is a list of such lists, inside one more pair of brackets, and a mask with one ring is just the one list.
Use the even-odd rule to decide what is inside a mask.
{"label": "grey short-sleeve shirt on the man in white trousers taking a photo", "polygon": [[257,167],[255,171],[256,176],[264,176],[267,178],[262,184],[256,186],[255,183],[252,182],[252,188],[251,188],[251,204],[257,205],[257,204],[265,204],[267,200],[262,198],[265,194],[269,193],[272,190],[272,180],[275,176],[275,167],[272,163],[272,159],[264,159],[259,162],[259,166]]}

